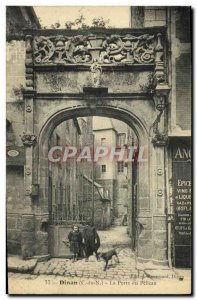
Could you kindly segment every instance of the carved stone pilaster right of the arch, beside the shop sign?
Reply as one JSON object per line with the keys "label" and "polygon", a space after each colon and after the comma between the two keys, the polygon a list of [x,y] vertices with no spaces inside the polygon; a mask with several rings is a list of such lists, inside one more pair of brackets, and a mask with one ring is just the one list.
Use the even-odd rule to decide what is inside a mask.
{"label": "carved stone pilaster right of the arch, beside the shop sign", "polygon": [[[161,69],[160,71],[161,72]],[[159,76],[159,80],[162,77]],[[166,160],[165,147],[167,136],[167,93],[165,83],[158,84],[154,97],[155,107],[159,111],[153,123],[152,143],[154,145],[154,203],[153,203],[153,255],[156,264],[167,265],[167,215],[166,215]]]}

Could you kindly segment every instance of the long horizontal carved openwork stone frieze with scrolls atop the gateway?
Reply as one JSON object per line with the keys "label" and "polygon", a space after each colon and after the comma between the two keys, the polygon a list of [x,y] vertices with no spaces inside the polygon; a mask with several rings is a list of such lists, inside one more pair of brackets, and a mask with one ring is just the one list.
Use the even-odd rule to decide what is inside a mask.
{"label": "long horizontal carved openwork stone frieze with scrolls atop the gateway", "polygon": [[101,64],[150,64],[155,62],[156,37],[149,34],[37,36],[33,49],[36,64],[92,64],[95,60]]}

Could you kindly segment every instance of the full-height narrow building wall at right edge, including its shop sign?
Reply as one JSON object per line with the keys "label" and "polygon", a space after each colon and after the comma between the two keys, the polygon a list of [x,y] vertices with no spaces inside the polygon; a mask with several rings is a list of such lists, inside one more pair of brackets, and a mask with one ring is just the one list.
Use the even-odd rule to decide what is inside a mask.
{"label": "full-height narrow building wall at right edge, including its shop sign", "polygon": [[191,267],[191,9],[172,7],[171,70],[169,82],[169,159],[171,161],[171,207],[173,221],[172,262],[175,267]]}

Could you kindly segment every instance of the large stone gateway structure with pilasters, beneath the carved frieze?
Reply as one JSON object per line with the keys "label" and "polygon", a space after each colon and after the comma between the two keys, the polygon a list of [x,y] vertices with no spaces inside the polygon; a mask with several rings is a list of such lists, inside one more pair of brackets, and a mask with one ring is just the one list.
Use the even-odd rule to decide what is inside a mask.
{"label": "large stone gateway structure with pilasters, beneath the carved frieze", "polygon": [[[149,42],[151,41],[150,45],[148,42],[148,47],[150,47],[152,55],[150,55],[149,49],[145,49],[146,47],[144,48],[145,53],[139,51],[137,47],[138,55],[141,54],[140,57],[135,55],[135,58],[137,57],[135,63],[132,58],[133,53],[128,56],[131,57],[131,61],[126,60],[125,64],[116,61],[113,61],[112,64],[101,63],[103,72],[100,76],[99,89],[102,89],[102,94],[98,91],[95,94],[95,90],[93,94],[87,92],[87,87],[97,89],[92,82],[94,79],[90,68],[92,62],[87,64],[72,62],[70,64],[67,61],[58,61],[56,63],[56,59],[52,62],[46,57],[40,61],[34,55],[37,53],[38,46],[36,45],[46,37],[38,38],[39,32],[34,32],[33,36],[26,36],[27,89],[23,93],[25,100],[23,144],[26,146],[27,164],[24,178],[23,254],[25,252],[28,252],[28,256],[48,254],[47,230],[45,232],[40,230],[46,226],[39,224],[47,223],[49,216],[47,141],[50,132],[63,120],[77,116],[97,115],[110,116],[127,123],[136,133],[139,144],[147,145],[149,160],[146,164],[138,166],[139,238],[137,254],[139,259],[155,260],[158,263],[167,262],[165,178],[167,162],[165,158],[166,134],[164,134],[167,126],[167,113],[163,113],[163,111],[169,87],[166,85],[163,60],[165,49],[162,44],[165,40],[165,28],[162,30],[160,28],[151,29],[151,32],[149,29],[145,31],[143,29],[143,34],[146,32],[143,36],[141,36],[141,29],[135,33],[128,30],[104,29],[102,35],[111,36],[117,32],[120,34],[118,41],[122,38],[130,39],[128,33],[132,34],[132,38],[133,35],[136,35],[136,46],[139,39],[141,40],[143,37],[142,40],[147,47],[148,39]],[[98,34],[97,31],[95,33]],[[43,34],[51,36],[48,31],[44,31]],[[60,34],[67,36],[68,33],[60,32]],[[73,32],[72,36],[75,34],[76,32]],[[90,32],[84,32],[85,39],[88,41],[92,39],[89,34]],[[53,43],[56,38],[57,31],[54,32],[54,36],[49,38],[49,42]],[[73,40],[73,37],[69,37],[69,39]],[[106,40],[106,37],[103,36],[103,39]],[[92,47],[90,51],[94,52],[95,48]],[[152,83],[154,77],[156,78],[156,87]],[[159,115],[156,113],[157,109],[160,111]],[[153,125],[155,136],[152,143],[148,132]],[[161,132],[159,127],[161,127]],[[36,137],[38,143],[36,143]],[[31,226],[26,230],[26,220],[29,222],[29,219]],[[30,231],[31,239],[29,238]]]}

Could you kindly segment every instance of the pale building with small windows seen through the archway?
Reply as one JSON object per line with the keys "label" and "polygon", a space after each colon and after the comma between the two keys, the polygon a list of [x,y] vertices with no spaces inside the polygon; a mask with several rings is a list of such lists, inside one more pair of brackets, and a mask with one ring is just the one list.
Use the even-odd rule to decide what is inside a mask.
{"label": "pale building with small windows seen through the archway", "polygon": [[[132,197],[131,185],[128,184],[132,180],[132,161],[128,161],[127,149],[134,148],[135,134],[129,126],[119,120],[100,117],[93,118],[93,132],[95,147],[103,146],[109,152],[117,153],[112,161],[109,156],[98,160],[95,165],[95,180],[108,190],[113,203],[114,221],[121,224],[124,216],[126,218],[128,201]],[[137,149],[137,145],[135,146]],[[121,149],[125,149],[123,157]]]}

